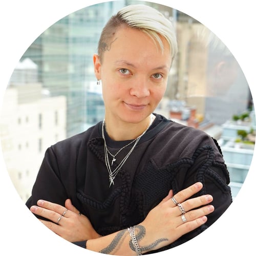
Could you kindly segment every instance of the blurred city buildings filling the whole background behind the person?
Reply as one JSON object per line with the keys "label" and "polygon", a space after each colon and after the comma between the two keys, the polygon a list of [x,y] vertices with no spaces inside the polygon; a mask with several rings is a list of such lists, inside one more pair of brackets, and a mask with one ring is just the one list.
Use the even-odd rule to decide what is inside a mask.
{"label": "blurred city buildings filling the whole background behind the person", "polygon": [[27,49],[10,78],[0,119],[7,170],[20,197],[31,194],[47,147],[104,118],[93,54],[111,15],[129,4],[159,9],[174,23],[178,55],[156,113],[204,130],[221,145],[236,197],[255,142],[251,93],[236,59],[193,17],[150,2],[113,1],[63,17]]}

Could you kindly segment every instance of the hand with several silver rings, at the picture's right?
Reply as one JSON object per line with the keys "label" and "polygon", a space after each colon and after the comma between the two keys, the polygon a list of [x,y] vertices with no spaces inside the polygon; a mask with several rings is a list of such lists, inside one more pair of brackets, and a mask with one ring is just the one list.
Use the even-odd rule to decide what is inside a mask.
{"label": "hand with several silver rings, at the picture's right", "polygon": [[[175,195],[175,200],[177,203],[181,203],[186,212],[184,215],[172,200],[173,191],[170,190],[168,196],[153,208],[140,224],[145,227],[144,238],[139,242],[140,247],[154,245],[154,249],[158,249],[173,243],[183,234],[204,224],[207,221],[206,215],[214,211],[214,206],[206,205],[212,202],[212,196],[204,195],[188,199],[198,193],[202,187],[202,183],[197,182]],[[185,217],[184,221],[182,216],[183,219]]]}

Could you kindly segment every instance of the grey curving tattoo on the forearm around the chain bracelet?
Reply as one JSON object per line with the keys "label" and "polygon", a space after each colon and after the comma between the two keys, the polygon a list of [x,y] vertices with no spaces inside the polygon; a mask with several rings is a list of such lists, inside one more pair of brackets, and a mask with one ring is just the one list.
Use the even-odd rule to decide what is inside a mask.
{"label": "grey curving tattoo on the forearm around the chain bracelet", "polygon": [[[139,242],[141,239],[144,238],[145,234],[146,234],[146,229],[141,226],[141,225],[138,225],[138,226],[135,226],[135,228],[138,230],[138,233],[136,235],[136,239],[137,241]],[[122,245],[122,242],[124,240],[124,238],[129,234],[129,232],[127,230],[121,230],[119,231],[115,238],[112,240],[112,242],[110,243],[110,245],[108,245],[106,248],[102,249],[101,253],[105,253],[105,254],[110,254],[111,252],[113,252],[114,250],[117,250],[121,245]],[[149,244],[149,245],[146,245],[146,246],[143,246],[143,247],[140,247],[140,250],[141,252],[143,251],[148,251],[148,250],[152,250],[154,249],[158,244],[160,244],[161,242],[163,241],[168,241],[167,238],[160,238],[160,239],[157,239],[155,242]],[[133,250],[133,251],[136,251],[134,246],[133,246],[133,243],[132,241],[130,241],[129,243],[130,245],[130,248]]]}

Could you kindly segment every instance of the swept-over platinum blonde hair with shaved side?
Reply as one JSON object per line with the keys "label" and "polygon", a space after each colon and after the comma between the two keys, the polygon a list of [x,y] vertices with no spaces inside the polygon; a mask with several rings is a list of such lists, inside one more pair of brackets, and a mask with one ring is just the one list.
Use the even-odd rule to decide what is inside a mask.
{"label": "swept-over platinum blonde hair with shaved side", "polygon": [[113,15],[101,32],[98,43],[98,55],[102,60],[103,52],[108,50],[116,30],[122,26],[138,29],[151,38],[163,51],[161,37],[165,38],[172,52],[172,59],[177,54],[177,39],[173,24],[158,10],[146,5],[129,5]]}

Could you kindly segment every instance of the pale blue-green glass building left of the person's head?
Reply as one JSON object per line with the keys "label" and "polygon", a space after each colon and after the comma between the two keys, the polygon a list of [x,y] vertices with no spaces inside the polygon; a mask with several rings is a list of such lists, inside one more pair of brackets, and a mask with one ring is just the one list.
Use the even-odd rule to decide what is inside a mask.
{"label": "pale blue-green glass building left of the person's head", "polygon": [[102,120],[102,98],[93,89],[96,78],[92,56],[97,53],[97,42],[106,21],[124,4],[124,1],[102,3],[63,17],[42,33],[22,57],[37,64],[45,94],[66,96],[67,137]]}

